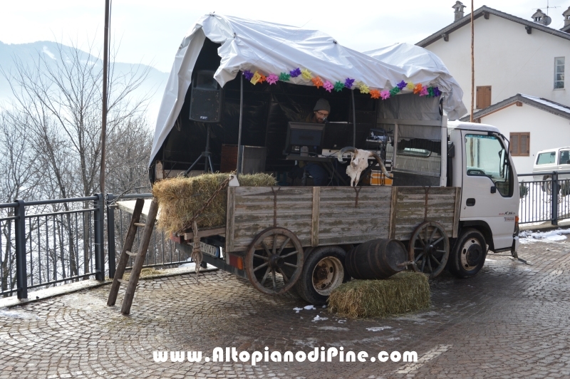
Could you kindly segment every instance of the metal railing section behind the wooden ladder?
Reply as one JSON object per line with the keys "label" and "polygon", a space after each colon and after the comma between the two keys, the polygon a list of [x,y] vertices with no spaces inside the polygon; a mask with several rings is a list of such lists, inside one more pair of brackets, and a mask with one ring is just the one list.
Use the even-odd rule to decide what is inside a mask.
{"label": "metal railing section behind the wooden ladder", "polygon": [[[117,201],[132,201],[133,209],[135,200],[138,198],[152,199],[152,194],[126,194],[116,196],[114,194],[107,195],[107,233],[108,233],[108,251],[109,251],[109,276],[115,275],[115,267],[120,258],[120,252],[123,250],[123,243],[127,234],[131,214],[125,210],[125,207],[119,207]],[[145,211],[143,209],[144,217]],[[138,251],[142,229],[137,231],[133,251]],[[177,264],[186,264],[187,254],[180,254],[180,250],[175,248],[175,243],[164,234],[157,230],[155,225],[154,232],[150,239],[145,264],[143,267],[173,266]],[[127,269],[133,266],[134,259],[129,257]]]}

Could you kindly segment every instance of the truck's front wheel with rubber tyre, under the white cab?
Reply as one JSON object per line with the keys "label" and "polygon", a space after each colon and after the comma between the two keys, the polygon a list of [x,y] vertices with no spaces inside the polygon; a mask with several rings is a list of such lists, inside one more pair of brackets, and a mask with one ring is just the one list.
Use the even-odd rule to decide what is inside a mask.
{"label": "truck's front wheel with rubber tyre, under the white cab", "polygon": [[447,267],[458,278],[469,278],[482,269],[486,256],[483,234],[477,229],[465,229],[453,246]]}

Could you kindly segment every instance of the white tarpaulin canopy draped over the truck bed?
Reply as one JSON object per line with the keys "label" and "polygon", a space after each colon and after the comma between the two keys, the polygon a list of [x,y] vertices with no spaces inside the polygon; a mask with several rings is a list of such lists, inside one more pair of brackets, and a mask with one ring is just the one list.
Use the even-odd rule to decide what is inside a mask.
{"label": "white tarpaulin canopy draped over the truck bed", "polygon": [[[467,113],[460,86],[440,59],[424,48],[398,44],[359,53],[321,31],[208,14],[185,36],[176,53],[157,117],[151,163],[180,113],[205,38],[221,44],[221,63],[214,78],[222,87],[240,71],[279,76],[301,68],[323,82],[352,78],[355,84],[363,83],[370,90],[390,90],[402,81],[437,87],[445,96],[443,109],[450,120]],[[303,76],[291,77],[289,82],[314,85]],[[402,90],[410,92],[408,88]]]}

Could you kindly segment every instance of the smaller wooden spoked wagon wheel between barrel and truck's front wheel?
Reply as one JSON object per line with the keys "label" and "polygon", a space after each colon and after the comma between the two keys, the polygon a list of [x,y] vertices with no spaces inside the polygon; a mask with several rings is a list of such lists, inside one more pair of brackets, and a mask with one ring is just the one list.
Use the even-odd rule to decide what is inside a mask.
{"label": "smaller wooden spoked wagon wheel between barrel and truck's front wheel", "polygon": [[409,245],[413,269],[435,278],[445,268],[450,256],[450,240],[441,224],[426,221],[415,228]]}

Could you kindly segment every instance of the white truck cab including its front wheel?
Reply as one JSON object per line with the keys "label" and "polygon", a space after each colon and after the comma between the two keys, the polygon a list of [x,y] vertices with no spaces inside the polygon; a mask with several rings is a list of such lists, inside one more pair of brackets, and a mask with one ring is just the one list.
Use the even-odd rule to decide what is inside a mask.
{"label": "white truck cab including its front wheel", "polygon": [[[450,185],[462,189],[460,233],[449,268],[457,276],[467,277],[476,274],[484,263],[487,246],[482,244],[494,252],[512,251],[516,256],[517,172],[509,141],[492,125],[450,121],[447,138],[455,148],[455,154],[448,152]],[[484,239],[480,239],[481,234]]]}

